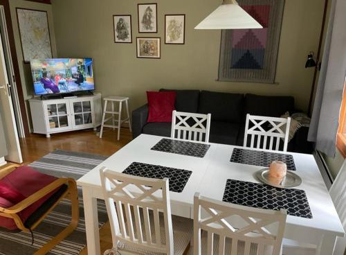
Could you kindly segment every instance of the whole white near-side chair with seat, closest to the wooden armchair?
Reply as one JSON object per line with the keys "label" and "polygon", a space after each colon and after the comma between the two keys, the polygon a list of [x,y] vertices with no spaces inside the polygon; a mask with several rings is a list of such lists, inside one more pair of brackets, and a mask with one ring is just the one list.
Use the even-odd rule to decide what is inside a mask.
{"label": "whole white near-side chair with seat, closest to the wooden armchair", "polygon": [[171,216],[168,179],[100,170],[113,248],[104,254],[183,254],[192,220]]}

